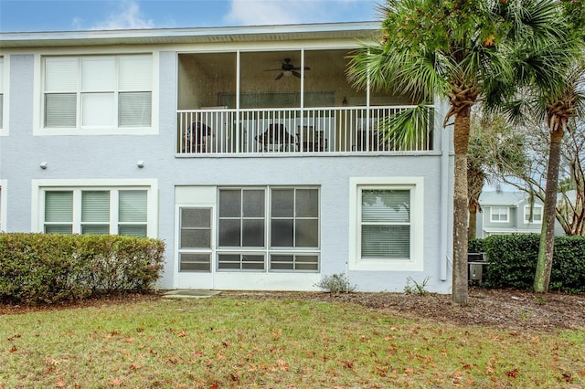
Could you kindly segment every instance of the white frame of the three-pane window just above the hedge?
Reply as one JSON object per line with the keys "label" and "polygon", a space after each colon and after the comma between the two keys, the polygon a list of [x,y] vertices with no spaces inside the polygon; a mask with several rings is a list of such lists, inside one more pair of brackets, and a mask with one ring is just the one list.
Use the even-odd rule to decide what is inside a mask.
{"label": "white frame of the three-pane window just above the hedge", "polygon": [[[110,234],[119,233],[120,226],[129,226],[121,222],[119,217],[119,194],[123,191],[146,192],[146,237],[158,235],[158,191],[157,181],[149,179],[130,180],[33,180],[32,183],[32,223],[31,230],[39,233],[45,231],[45,194],[46,192],[72,192],[73,217],[71,221],[72,233],[81,232],[81,193],[83,191],[110,191],[110,220],[108,222]],[[130,225],[142,225],[132,223]]]}

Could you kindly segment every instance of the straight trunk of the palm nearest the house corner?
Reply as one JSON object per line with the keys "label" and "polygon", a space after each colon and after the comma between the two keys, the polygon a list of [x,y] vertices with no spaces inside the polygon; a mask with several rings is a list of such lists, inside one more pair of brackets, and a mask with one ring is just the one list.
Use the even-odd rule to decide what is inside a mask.
{"label": "straight trunk of the palm nearest the house corner", "polygon": [[455,115],[453,148],[455,172],[453,177],[453,272],[452,300],[467,305],[467,151],[469,148],[470,107]]}

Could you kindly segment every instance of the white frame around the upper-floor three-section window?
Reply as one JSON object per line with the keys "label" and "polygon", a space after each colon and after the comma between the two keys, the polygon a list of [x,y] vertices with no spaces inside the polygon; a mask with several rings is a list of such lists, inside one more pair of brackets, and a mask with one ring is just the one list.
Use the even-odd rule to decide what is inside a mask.
{"label": "white frame around the upper-floor three-section window", "polygon": [[[150,59],[150,89],[148,90],[130,90],[124,89],[119,79],[121,61],[124,58],[149,58]],[[37,55],[36,57],[36,68],[38,79],[36,82],[36,96],[38,96],[37,108],[34,123],[34,135],[148,135],[158,134],[158,53],[155,51],[137,51],[128,53],[71,53],[71,54],[53,54],[46,53]],[[78,75],[77,75],[77,89],[75,92],[76,96],[76,118],[74,127],[46,127],[46,96],[50,94],[50,91],[46,88],[46,68],[48,58],[74,58],[77,63]],[[108,90],[107,93],[113,93],[112,100],[112,125],[98,125],[98,126],[83,126],[82,115],[83,115],[83,95],[88,93],[95,95],[98,92],[104,93],[103,90],[84,90],[81,85],[81,68],[83,67],[83,58],[113,58],[114,59],[114,72],[113,78],[115,79],[114,90]],[[52,90],[55,94],[59,93],[59,89]],[[95,92],[95,93],[93,93]],[[150,125],[134,125],[124,126],[120,125],[121,121],[121,108],[120,108],[120,96],[124,93],[136,93],[136,92],[148,92],[150,93]]]}

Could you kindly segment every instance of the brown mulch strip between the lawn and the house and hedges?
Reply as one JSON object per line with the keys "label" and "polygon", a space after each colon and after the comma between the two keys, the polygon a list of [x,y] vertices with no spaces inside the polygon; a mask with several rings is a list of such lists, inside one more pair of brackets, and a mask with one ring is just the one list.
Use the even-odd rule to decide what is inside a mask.
{"label": "brown mulch strip between the lawn and the house and hedges", "polygon": [[[54,305],[15,306],[0,304],[0,315],[36,310],[63,310],[139,301],[160,300],[162,293],[124,295],[94,300],[69,301]],[[372,310],[384,310],[415,320],[441,321],[453,325],[498,327],[510,331],[585,329],[585,295],[529,293],[516,289],[470,289],[469,305],[452,303],[451,295],[403,293],[258,292],[224,291],[211,299],[312,300],[355,303]]]}

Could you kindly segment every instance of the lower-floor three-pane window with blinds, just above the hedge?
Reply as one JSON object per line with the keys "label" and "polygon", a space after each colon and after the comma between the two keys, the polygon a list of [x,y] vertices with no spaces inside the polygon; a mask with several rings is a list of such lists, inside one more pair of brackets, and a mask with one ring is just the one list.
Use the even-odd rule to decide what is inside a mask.
{"label": "lower-floor three-pane window with blinds, just above the hedge", "polygon": [[43,231],[54,234],[113,234],[146,237],[146,189],[47,189]]}

